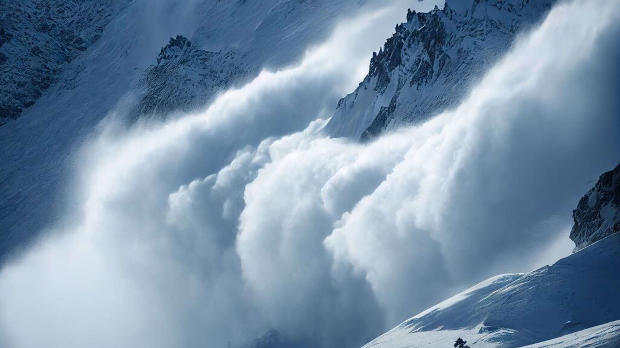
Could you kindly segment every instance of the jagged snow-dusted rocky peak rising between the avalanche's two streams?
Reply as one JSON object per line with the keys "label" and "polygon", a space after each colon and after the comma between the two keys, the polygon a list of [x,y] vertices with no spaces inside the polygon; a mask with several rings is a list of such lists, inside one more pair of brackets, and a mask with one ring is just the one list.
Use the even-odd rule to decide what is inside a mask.
{"label": "jagged snow-dusted rocky peak rising between the avalanche's two streams", "polygon": [[456,105],[554,0],[449,0],[443,9],[409,12],[357,89],[340,100],[332,136],[370,139]]}

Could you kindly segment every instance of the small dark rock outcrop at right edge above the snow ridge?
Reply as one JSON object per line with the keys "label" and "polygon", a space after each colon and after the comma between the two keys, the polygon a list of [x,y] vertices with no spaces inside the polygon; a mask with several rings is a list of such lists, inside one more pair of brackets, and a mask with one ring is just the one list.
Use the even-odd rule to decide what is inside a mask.
{"label": "small dark rock outcrop at right edge above the snow ridge", "polygon": [[603,173],[598,182],[580,199],[573,210],[575,224],[570,239],[575,250],[620,232],[620,164]]}

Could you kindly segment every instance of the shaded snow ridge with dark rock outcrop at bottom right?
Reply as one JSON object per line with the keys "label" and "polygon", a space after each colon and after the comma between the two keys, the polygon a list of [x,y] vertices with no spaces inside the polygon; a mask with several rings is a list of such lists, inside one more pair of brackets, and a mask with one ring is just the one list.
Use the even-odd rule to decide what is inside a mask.
{"label": "shaded snow ridge with dark rock outcrop at bottom right", "polygon": [[[527,274],[505,274],[404,321],[365,347],[441,347],[463,337],[471,347],[615,347],[620,344],[620,224],[608,214],[620,189],[618,168],[575,209],[578,251]],[[598,204],[588,199],[598,194]],[[593,199],[590,199],[593,201]],[[601,223],[601,215],[605,217]],[[594,226],[595,228],[582,228]],[[573,233],[571,233],[573,237]],[[548,342],[543,342],[547,341]]]}

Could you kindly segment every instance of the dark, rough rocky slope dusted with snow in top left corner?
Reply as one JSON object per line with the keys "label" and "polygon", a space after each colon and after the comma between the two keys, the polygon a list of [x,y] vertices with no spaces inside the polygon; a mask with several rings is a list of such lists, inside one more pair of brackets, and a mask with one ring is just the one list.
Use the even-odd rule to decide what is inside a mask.
{"label": "dark, rough rocky slope dusted with snow in top left corner", "polygon": [[17,118],[99,40],[127,1],[0,2],[0,125]]}

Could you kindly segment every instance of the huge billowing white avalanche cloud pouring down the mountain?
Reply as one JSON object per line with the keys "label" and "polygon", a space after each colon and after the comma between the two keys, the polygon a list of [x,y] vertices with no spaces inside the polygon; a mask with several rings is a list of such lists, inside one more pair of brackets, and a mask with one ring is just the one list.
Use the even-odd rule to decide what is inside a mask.
{"label": "huge billowing white avalanche cloud pouring down the mountain", "polygon": [[325,136],[312,120],[367,63],[354,38],[380,42],[393,14],[347,22],[200,115],[102,134],[83,210],[0,272],[2,345],[224,347],[275,328],[353,347],[538,266],[620,158],[620,4],[556,6],[425,124]]}

